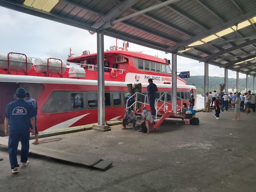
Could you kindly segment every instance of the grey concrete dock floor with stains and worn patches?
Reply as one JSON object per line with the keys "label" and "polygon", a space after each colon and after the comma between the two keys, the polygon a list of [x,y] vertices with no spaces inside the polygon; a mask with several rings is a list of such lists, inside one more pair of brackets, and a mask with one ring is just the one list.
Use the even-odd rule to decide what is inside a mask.
{"label": "grey concrete dock floor with stains and worn patches", "polygon": [[[199,112],[200,125],[162,124],[157,133],[111,126],[111,131],[41,138],[41,147],[110,160],[89,169],[37,155],[11,174],[7,147],[0,146],[0,189],[4,192],[250,192],[256,191],[256,113],[231,121],[234,111]],[[49,140],[50,139],[50,140]],[[45,140],[45,141],[44,141]],[[33,142],[34,140],[30,140]],[[47,142],[48,141],[48,142]],[[49,142],[50,141],[50,142]],[[233,149],[228,151],[225,149]],[[18,155],[18,162],[20,156]]]}

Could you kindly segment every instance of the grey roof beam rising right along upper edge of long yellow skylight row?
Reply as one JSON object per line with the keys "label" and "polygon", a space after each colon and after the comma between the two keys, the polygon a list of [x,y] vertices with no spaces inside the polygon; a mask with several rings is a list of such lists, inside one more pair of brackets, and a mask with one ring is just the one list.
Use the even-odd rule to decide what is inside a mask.
{"label": "grey roof beam rising right along upper edge of long yellow skylight row", "polygon": [[[158,0],[157,0],[157,1],[158,1]],[[202,39],[202,38],[205,38],[205,37],[207,37],[207,36],[210,36],[210,35],[212,35],[212,34],[215,34],[215,33],[219,32],[219,31],[221,31],[221,30],[224,30],[224,29],[227,29],[227,28],[229,28],[229,27],[231,27],[231,26],[234,26],[234,25],[237,24],[237,23],[246,21],[246,20],[248,20],[248,19],[254,17],[255,15],[256,15],[256,10],[250,11],[250,12],[244,14],[244,15],[238,16],[238,17],[235,18],[235,19],[226,21],[226,22],[224,22],[222,25],[218,25],[218,26],[213,27],[213,28],[211,28],[211,29],[209,29],[209,30],[206,30],[205,32],[203,32],[203,33],[201,33],[201,34],[198,34],[198,35],[196,35],[196,36],[194,36],[194,37],[192,37],[192,38],[190,38],[190,39],[187,39],[187,40],[185,40],[185,41],[182,41],[182,42],[178,43],[177,46],[178,46],[179,48],[180,48],[180,47],[184,47],[184,46],[189,45],[189,44],[191,44],[191,43],[193,43],[193,42],[195,42],[195,41],[198,41],[198,40],[200,40],[200,39]],[[176,49],[177,49],[176,46],[169,48],[169,50],[176,50]]]}

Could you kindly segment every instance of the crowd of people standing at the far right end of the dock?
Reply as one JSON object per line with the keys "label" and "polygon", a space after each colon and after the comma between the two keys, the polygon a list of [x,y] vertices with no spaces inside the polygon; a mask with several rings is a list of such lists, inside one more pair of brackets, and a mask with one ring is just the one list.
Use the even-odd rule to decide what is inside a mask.
{"label": "crowd of people standing at the far right end of the dock", "polygon": [[[256,95],[251,93],[249,90],[245,93],[235,92],[234,95],[232,93],[228,94],[222,91],[221,94],[214,92],[206,92],[205,93],[206,103],[203,112],[210,112],[211,109],[215,110],[215,118],[219,119],[220,110],[228,111],[229,108],[234,107],[235,118],[233,121],[240,120],[240,112],[245,112],[246,115],[249,113],[253,114],[255,112],[255,102]],[[214,107],[213,107],[214,103]]]}

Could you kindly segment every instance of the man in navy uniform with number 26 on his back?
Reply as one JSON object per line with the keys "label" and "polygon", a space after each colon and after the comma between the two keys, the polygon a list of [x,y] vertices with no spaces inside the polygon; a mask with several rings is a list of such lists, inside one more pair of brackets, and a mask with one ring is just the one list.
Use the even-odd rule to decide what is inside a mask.
{"label": "man in navy uniform with number 26 on his back", "polygon": [[32,126],[32,135],[35,134],[34,109],[30,103],[24,100],[26,90],[18,88],[16,97],[17,100],[10,102],[4,113],[5,134],[9,135],[8,152],[12,173],[18,173],[17,148],[19,141],[21,141],[20,162],[22,162],[22,166],[28,164],[30,125]]}

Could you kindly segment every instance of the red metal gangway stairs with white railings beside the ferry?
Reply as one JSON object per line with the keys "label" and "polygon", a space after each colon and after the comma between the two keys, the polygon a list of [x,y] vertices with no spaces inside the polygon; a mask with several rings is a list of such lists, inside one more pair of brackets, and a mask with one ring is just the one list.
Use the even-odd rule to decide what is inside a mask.
{"label": "red metal gangway stairs with white railings beside the ferry", "polygon": [[[167,102],[166,99],[168,94],[171,96],[171,101],[173,101],[173,98],[176,97],[178,102],[181,102],[181,106],[179,106],[178,104],[175,105],[172,102]],[[139,95],[144,96],[144,102],[138,101]],[[164,97],[164,100],[162,100],[163,97]],[[131,98],[135,98],[135,101],[131,106],[135,105],[134,113],[135,113],[135,116],[137,117],[136,124],[139,125],[141,123],[141,120],[138,120],[138,118],[141,117],[139,115],[142,114],[142,108],[145,106],[149,106],[149,103],[147,103],[148,96],[139,92],[134,93],[130,98],[127,99],[126,108],[131,107],[131,106],[128,106],[128,100]],[[163,92],[162,95],[160,95],[160,97],[155,100],[154,106],[156,110],[156,116],[153,118],[155,122],[153,128],[155,129],[155,131],[157,131],[161,123],[164,122],[166,118],[178,118],[178,119],[185,118],[185,115],[173,112],[174,107],[176,107],[177,112],[180,112],[182,109],[184,109],[182,107],[183,102],[188,103],[188,101],[186,101],[185,99],[177,97],[168,92]],[[140,109],[138,109],[138,106],[139,106],[138,104],[141,104]],[[168,107],[171,107],[171,109],[170,108],[168,109]]]}

